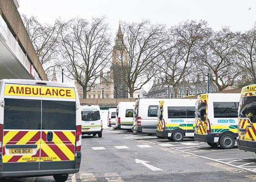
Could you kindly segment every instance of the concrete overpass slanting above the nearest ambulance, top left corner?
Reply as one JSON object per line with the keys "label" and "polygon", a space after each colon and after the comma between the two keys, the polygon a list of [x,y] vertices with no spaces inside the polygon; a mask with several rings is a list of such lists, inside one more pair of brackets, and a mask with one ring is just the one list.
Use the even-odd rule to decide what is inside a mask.
{"label": "concrete overpass slanting above the nearest ambulance, top left corner", "polygon": [[0,79],[48,80],[18,6],[19,0],[0,0]]}

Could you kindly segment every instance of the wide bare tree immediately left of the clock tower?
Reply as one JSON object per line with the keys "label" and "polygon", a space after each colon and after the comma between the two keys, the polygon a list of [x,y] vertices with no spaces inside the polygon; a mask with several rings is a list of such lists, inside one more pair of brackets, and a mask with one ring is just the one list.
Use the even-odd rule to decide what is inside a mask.
{"label": "wide bare tree immediately left of the clock tower", "polygon": [[83,88],[83,98],[95,87],[100,71],[111,55],[111,36],[105,17],[92,18],[92,22],[77,18],[61,28],[63,67],[67,75]]}

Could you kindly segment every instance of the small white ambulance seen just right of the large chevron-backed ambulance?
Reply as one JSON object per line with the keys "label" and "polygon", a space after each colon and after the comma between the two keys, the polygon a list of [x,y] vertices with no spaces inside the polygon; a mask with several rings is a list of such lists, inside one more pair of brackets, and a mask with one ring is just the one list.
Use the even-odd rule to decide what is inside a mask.
{"label": "small white ambulance seen just right of the large chevron-backed ambulance", "polygon": [[102,137],[103,123],[100,116],[100,106],[98,105],[82,105],[82,135]]}

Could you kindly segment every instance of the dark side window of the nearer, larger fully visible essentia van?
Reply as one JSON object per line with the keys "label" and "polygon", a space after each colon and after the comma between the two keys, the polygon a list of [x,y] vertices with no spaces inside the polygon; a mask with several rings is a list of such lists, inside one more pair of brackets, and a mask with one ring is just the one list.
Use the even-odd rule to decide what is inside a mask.
{"label": "dark side window of the nearer, larger fully visible essentia van", "polygon": [[238,118],[238,102],[214,102],[214,118]]}

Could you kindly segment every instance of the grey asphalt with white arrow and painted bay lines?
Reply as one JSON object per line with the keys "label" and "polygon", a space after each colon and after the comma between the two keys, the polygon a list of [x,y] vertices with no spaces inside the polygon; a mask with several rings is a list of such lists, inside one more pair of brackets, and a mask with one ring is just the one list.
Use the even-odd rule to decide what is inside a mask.
{"label": "grey asphalt with white arrow and painted bay lines", "polygon": [[[256,180],[256,154],[235,147],[210,147],[191,138],[182,142],[128,131],[104,130],[83,136],[80,172],[69,182],[241,182]],[[53,182],[53,177],[5,179]]]}

